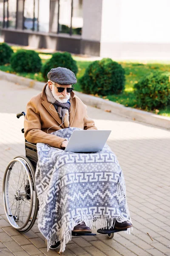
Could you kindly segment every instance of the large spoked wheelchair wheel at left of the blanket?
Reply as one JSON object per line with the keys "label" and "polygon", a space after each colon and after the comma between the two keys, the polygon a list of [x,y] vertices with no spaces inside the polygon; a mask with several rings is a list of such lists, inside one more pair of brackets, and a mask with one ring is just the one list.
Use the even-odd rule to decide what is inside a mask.
{"label": "large spoked wheelchair wheel at left of the blanket", "polygon": [[3,178],[3,204],[9,223],[21,233],[31,229],[37,218],[38,198],[34,167],[27,157],[8,163]]}

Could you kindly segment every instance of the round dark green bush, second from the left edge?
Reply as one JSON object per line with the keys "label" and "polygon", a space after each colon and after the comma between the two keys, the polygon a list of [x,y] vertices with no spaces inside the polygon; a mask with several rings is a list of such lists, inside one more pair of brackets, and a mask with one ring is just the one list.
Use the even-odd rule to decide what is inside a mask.
{"label": "round dark green bush, second from the left edge", "polygon": [[11,67],[18,73],[36,73],[42,67],[41,58],[33,50],[18,50],[11,57]]}

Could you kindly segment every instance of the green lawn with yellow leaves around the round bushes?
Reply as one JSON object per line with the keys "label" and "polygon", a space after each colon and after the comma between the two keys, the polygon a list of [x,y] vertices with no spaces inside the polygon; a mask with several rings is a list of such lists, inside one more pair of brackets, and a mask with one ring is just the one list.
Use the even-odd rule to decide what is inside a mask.
{"label": "green lawn with yellow leaves around the round bushes", "polygon": [[[13,48],[14,51],[16,51],[16,47]],[[18,48],[17,48],[18,49]],[[40,58],[42,59],[42,64],[45,63],[49,58],[51,58],[51,54],[49,53],[39,53]],[[78,66],[78,73],[77,73],[77,84],[75,84],[75,90],[82,91],[81,86],[79,84],[79,79],[83,76],[85,73],[85,69],[88,67],[88,65],[91,63],[91,61],[85,61],[85,58],[80,58],[77,56],[73,56],[73,58],[77,61]],[[110,95],[104,98],[107,98],[111,101],[123,104],[127,107],[136,108],[136,99],[133,92],[133,86],[135,83],[139,81],[144,76],[147,76],[150,73],[153,73],[155,71],[167,71],[170,72],[170,62],[166,63],[152,63],[152,62],[132,62],[132,61],[122,61],[119,62],[119,64],[122,65],[122,67],[125,69],[125,76],[126,76],[126,83],[125,83],[125,90],[123,93],[119,95]],[[37,81],[44,81],[41,73],[15,73],[10,64],[6,64],[3,66],[0,66],[0,70],[3,70],[8,73],[14,73],[18,76],[24,76],[27,78],[35,79]],[[159,109],[158,114],[161,114],[163,116],[169,116],[170,117],[170,106],[166,109]]]}

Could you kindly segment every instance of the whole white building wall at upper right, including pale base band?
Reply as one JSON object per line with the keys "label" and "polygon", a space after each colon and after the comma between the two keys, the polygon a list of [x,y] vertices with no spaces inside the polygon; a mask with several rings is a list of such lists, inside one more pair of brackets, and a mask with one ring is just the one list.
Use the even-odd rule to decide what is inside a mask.
{"label": "whole white building wall at upper right, including pale base band", "polygon": [[103,0],[100,56],[170,58],[170,0]]}

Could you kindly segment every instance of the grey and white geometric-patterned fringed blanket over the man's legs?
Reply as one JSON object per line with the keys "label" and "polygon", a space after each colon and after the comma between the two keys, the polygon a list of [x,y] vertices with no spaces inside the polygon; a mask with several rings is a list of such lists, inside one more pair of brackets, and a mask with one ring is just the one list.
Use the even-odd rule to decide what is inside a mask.
{"label": "grey and white geometric-patterned fringed blanket over the man's legs", "polygon": [[[53,134],[69,140],[75,129],[81,130],[66,128]],[[73,153],[37,143],[37,152],[38,227],[48,249],[60,241],[63,252],[71,230],[83,221],[99,229],[113,226],[115,219],[130,220],[124,176],[107,144],[95,153]]]}

